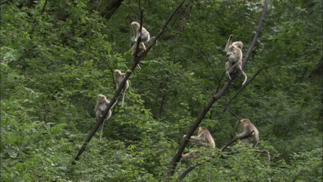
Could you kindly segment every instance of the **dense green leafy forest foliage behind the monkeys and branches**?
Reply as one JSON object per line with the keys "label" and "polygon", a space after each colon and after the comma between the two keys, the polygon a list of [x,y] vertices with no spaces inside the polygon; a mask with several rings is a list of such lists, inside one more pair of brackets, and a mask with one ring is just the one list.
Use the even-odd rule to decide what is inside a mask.
{"label": "dense green leafy forest foliage behind the monkeys and branches", "polygon": [[[178,3],[141,1],[151,36]],[[245,56],[262,9],[256,0],[186,1],[130,75],[125,106],[119,97],[102,141],[96,132],[72,165],[93,129],[97,95],[112,99],[113,70],[133,62],[138,2],[2,1],[1,181],[175,181],[196,164],[183,181],[205,181],[209,169],[211,181],[322,181],[320,0],[268,2],[244,67],[254,79],[242,87],[238,75],[200,124],[216,141],[215,158],[182,159],[169,175],[183,135],[228,80],[230,34]],[[241,132],[238,118],[258,128],[258,147],[220,151]],[[274,156],[268,162],[255,150]]]}

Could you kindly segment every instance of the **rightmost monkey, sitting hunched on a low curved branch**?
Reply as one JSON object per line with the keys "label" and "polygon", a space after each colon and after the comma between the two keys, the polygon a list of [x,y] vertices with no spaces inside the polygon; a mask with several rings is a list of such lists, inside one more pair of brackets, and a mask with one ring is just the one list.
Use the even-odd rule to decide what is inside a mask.
{"label": "rightmost monkey, sitting hunched on a low curved branch", "polygon": [[259,143],[258,129],[247,118],[241,119],[240,122],[241,122],[241,127],[243,130],[243,133],[237,134],[236,138],[238,138],[239,136],[243,136],[244,134],[246,134],[248,132],[253,131],[253,133],[251,134],[251,136],[249,136],[249,138],[244,138],[241,140],[241,142],[253,144],[253,147],[256,147]]}

